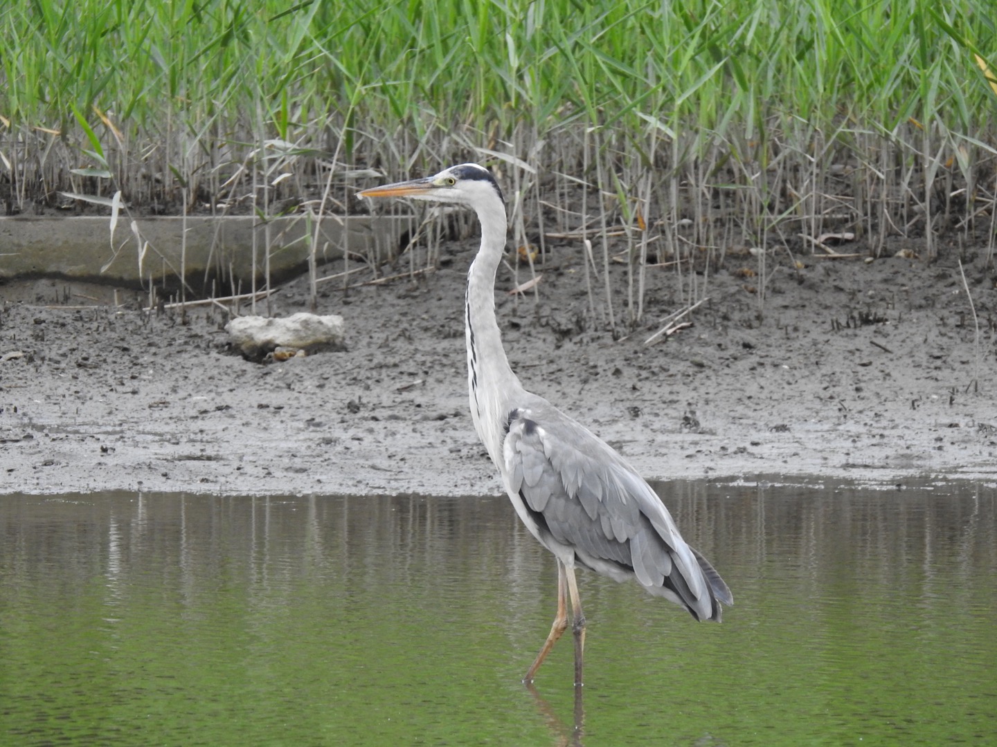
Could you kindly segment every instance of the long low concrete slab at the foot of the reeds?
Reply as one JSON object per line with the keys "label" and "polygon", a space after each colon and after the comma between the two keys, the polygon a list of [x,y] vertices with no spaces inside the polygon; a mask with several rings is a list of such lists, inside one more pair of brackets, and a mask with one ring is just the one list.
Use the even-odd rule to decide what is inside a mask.
{"label": "long low concrete slab at the foot of the reeds", "polygon": [[[341,258],[345,251],[382,263],[394,257],[411,219],[328,216],[322,220],[315,257]],[[184,242],[185,236],[185,242]],[[253,273],[261,285],[269,246],[273,284],[307,271],[314,224],[305,216],[153,217],[119,219],[114,236],[108,217],[0,217],[0,280],[52,278],[140,290],[179,288],[186,278],[195,293],[217,287],[247,289]],[[256,248],[253,251],[253,241]]]}

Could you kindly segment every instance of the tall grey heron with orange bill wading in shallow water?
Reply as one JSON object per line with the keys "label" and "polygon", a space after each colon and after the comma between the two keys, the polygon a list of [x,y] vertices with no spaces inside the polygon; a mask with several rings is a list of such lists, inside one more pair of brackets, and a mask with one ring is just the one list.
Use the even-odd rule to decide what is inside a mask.
{"label": "tall grey heron with orange bill wading in shallow water", "polygon": [[492,173],[477,163],[435,176],[365,189],[361,197],[412,197],[455,203],[478,213],[482,245],[468,271],[465,339],[475,429],[530,534],[557,559],[557,615],[526,671],[537,668],[567,627],[570,597],[574,678],[582,682],[585,618],[575,568],[616,581],[634,579],[652,595],[699,621],[720,622],[734,604],[730,589],[679,534],[658,495],[627,461],[584,425],[526,391],[502,348],[495,305],[505,247],[505,200]]}

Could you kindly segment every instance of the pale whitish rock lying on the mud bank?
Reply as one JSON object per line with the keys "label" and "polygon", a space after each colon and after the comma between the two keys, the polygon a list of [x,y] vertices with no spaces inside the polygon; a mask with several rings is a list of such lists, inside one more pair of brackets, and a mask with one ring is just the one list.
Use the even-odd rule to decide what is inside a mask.
{"label": "pale whitish rock lying on the mud bank", "polygon": [[304,312],[284,319],[237,317],[225,325],[225,332],[242,355],[251,359],[260,359],[277,347],[309,352],[341,348],[344,339],[342,317]]}

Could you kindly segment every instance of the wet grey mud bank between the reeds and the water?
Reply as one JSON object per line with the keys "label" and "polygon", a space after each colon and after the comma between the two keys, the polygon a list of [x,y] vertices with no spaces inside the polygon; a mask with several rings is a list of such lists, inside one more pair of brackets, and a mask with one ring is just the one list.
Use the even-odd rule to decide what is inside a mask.
{"label": "wet grey mud bank between the reeds and the water", "polygon": [[[326,289],[317,311],[344,317],[349,350],[268,366],[227,351],[216,308],[72,308],[96,296],[0,288],[0,491],[500,492],[468,413],[475,246],[446,246],[414,283]],[[498,293],[505,347],[527,387],[649,478],[997,478],[997,291],[982,258],[966,267],[978,340],[954,258],[770,264],[761,306],[750,257],[710,277],[652,270],[647,323],[613,340],[591,322],[578,256],[553,248],[538,303]],[[514,283],[500,271],[499,289]],[[644,345],[691,283],[710,296],[693,326]],[[308,310],[304,282],[274,303]],[[599,318],[598,291],[595,305]]]}

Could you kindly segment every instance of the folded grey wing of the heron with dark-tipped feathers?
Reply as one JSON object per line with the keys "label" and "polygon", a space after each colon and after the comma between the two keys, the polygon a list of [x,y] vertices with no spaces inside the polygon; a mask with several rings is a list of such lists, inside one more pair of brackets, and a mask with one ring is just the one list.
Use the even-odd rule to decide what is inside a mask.
{"label": "folded grey wing of the heron with dark-tipped feathers", "polygon": [[[720,620],[730,590],[679,534],[661,499],[613,449],[545,400],[509,413],[506,487],[521,499],[534,534],[555,553]],[[550,540],[553,542],[551,543]]]}

